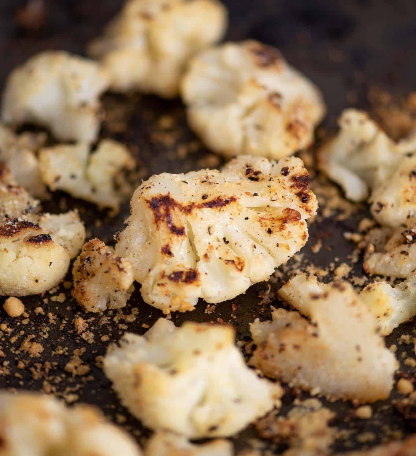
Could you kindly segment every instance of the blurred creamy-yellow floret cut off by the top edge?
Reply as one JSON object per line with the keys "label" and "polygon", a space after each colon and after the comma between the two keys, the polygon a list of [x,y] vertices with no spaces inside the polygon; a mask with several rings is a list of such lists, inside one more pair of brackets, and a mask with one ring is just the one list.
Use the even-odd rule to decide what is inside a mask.
{"label": "blurred creamy-yellow floret cut off by the top edge", "polygon": [[219,41],[226,26],[216,0],[129,0],[89,53],[110,74],[112,89],[171,98],[189,57]]}

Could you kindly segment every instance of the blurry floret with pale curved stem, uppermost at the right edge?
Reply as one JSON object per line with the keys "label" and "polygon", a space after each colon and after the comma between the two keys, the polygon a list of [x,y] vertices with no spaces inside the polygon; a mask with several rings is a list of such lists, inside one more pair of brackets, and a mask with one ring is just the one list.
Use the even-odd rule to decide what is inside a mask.
{"label": "blurry floret with pale curved stem, uppermost at the right edge", "polygon": [[338,124],[338,134],[318,151],[317,164],[352,201],[364,201],[405,154],[416,150],[416,135],[395,143],[364,111],[346,109]]}

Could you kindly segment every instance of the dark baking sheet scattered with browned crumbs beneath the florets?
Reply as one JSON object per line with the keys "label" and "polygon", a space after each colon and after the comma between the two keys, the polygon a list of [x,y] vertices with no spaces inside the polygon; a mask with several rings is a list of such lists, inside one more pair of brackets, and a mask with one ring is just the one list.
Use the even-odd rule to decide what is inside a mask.
{"label": "dark baking sheet scattered with browned crumbs beneath the florets", "polygon": [[[287,60],[312,78],[324,93],[328,104],[328,118],[325,125],[330,128],[340,111],[354,105],[368,107],[367,93],[372,84],[380,84],[397,93],[406,93],[414,88],[416,64],[413,55],[416,51],[416,5],[411,1],[293,1],[293,0],[224,0],[230,10],[228,38],[240,40],[255,38],[280,47]],[[120,8],[121,0],[46,0],[44,15],[31,17],[21,14],[26,1],[1,0],[0,4],[0,81],[3,84],[7,73],[17,64],[24,62],[32,54],[46,49],[65,49],[84,54],[86,43],[97,36],[104,24]],[[165,101],[151,96],[104,97],[104,122],[102,137],[113,137],[125,142],[135,154],[140,176],[146,178],[162,171],[186,172],[211,163],[215,166],[215,156],[198,144],[188,130],[182,104],[179,101]],[[166,129],[160,119],[169,116],[172,127]],[[177,150],[187,150],[186,157],[178,158]],[[185,154],[182,154],[185,155]],[[181,155],[181,156],[182,156]],[[217,161],[221,163],[220,160]],[[126,203],[119,216],[109,218],[107,212],[98,212],[93,205],[74,200],[63,193],[56,193],[47,202],[45,210],[58,212],[77,207],[88,227],[88,237],[98,236],[111,243],[115,232],[122,229],[123,220],[129,213]],[[334,262],[350,263],[348,255],[354,245],[343,238],[345,231],[355,231],[359,220],[367,215],[365,208],[345,220],[319,219],[310,225],[310,240],[302,250],[302,264],[315,264],[327,268]],[[311,251],[312,245],[322,239],[324,248],[317,254]],[[279,288],[282,279],[271,283],[271,293]],[[354,265],[352,274],[362,274],[361,262]],[[325,280],[329,280],[331,274]],[[68,275],[68,279],[70,276]],[[13,331],[0,332],[1,350],[5,357],[0,358],[0,387],[50,390],[67,399],[96,404],[114,421],[122,422],[137,438],[142,440],[148,432],[143,430],[135,419],[120,406],[97,365],[97,357],[104,355],[109,342],[120,338],[125,330],[143,333],[142,324],[152,325],[161,312],[145,304],[140,291],[135,291],[122,314],[129,315],[138,309],[135,321],[120,320],[120,312],[109,311],[109,321],[102,324],[101,316],[85,314],[70,297],[63,286],[55,293],[65,293],[63,303],[51,301],[51,295],[24,298],[29,314],[26,324],[24,317],[11,319],[1,311],[1,323],[6,323]],[[255,317],[266,318],[270,305],[281,303],[272,298],[264,300],[267,283],[258,284],[232,301],[218,305],[214,313],[206,313],[206,304],[200,302],[192,313],[173,314],[172,321],[181,324],[185,320],[224,321],[236,327],[238,339],[248,339],[249,323]],[[49,298],[45,304],[43,300]],[[4,298],[0,298],[0,304]],[[35,314],[35,308],[42,306],[45,315]],[[51,316],[48,316],[51,312]],[[94,341],[88,343],[78,335],[73,326],[75,316],[88,321],[88,331],[94,334]],[[118,315],[118,316],[117,316]],[[125,325],[125,326],[120,326]],[[397,343],[400,334],[412,333],[414,323],[400,326],[387,338],[387,344]],[[33,341],[39,342],[44,351],[39,358],[19,351],[21,342],[33,334]],[[109,341],[101,342],[103,335]],[[16,340],[12,337],[17,336]],[[10,339],[12,338],[12,339]],[[90,367],[88,375],[77,376],[66,372],[65,366],[74,349],[85,348],[81,359]],[[415,368],[402,363],[401,352],[414,355],[413,344],[397,345],[397,358],[400,360],[399,375],[413,378]],[[22,368],[20,361],[24,362]],[[76,396],[74,396],[74,394]],[[290,391],[284,397],[282,412],[290,407],[295,395],[306,398],[307,394]],[[373,405],[371,420],[358,420],[352,414],[350,403],[327,404],[337,412],[336,424],[340,429],[351,430],[347,439],[337,440],[334,449],[344,451],[351,448],[371,446],[393,437],[407,435],[409,423],[395,412],[392,401],[398,398],[393,391],[389,401]],[[325,401],[323,401],[325,402]],[[123,418],[124,417],[124,418]],[[374,439],[360,442],[357,436],[363,432],[373,432]],[[252,438],[258,438],[253,428],[236,437],[236,449],[248,446]],[[271,442],[265,447],[276,450]],[[281,449],[280,447],[278,449]]]}

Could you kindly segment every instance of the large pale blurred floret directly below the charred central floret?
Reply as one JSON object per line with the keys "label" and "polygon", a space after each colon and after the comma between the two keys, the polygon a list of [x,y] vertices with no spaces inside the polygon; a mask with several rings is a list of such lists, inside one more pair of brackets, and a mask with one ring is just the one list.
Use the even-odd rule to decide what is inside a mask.
{"label": "large pale blurred floret directly below the charred central floret", "polygon": [[234,435],[282,395],[245,365],[231,326],[176,328],[160,318],[145,336],[125,334],[109,348],[104,372],[144,425],[189,438]]}

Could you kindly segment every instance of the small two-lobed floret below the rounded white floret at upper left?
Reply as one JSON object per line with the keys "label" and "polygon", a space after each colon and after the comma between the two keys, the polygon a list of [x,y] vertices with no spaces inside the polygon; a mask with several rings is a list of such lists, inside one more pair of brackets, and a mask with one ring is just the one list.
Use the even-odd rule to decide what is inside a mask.
{"label": "small two-lobed floret below the rounded white floret at upper left", "polygon": [[63,190],[99,207],[110,207],[113,212],[118,212],[130,193],[123,172],[132,170],[135,161],[116,141],[100,141],[91,154],[86,143],[57,145],[41,150],[39,162],[42,178],[52,191]]}

